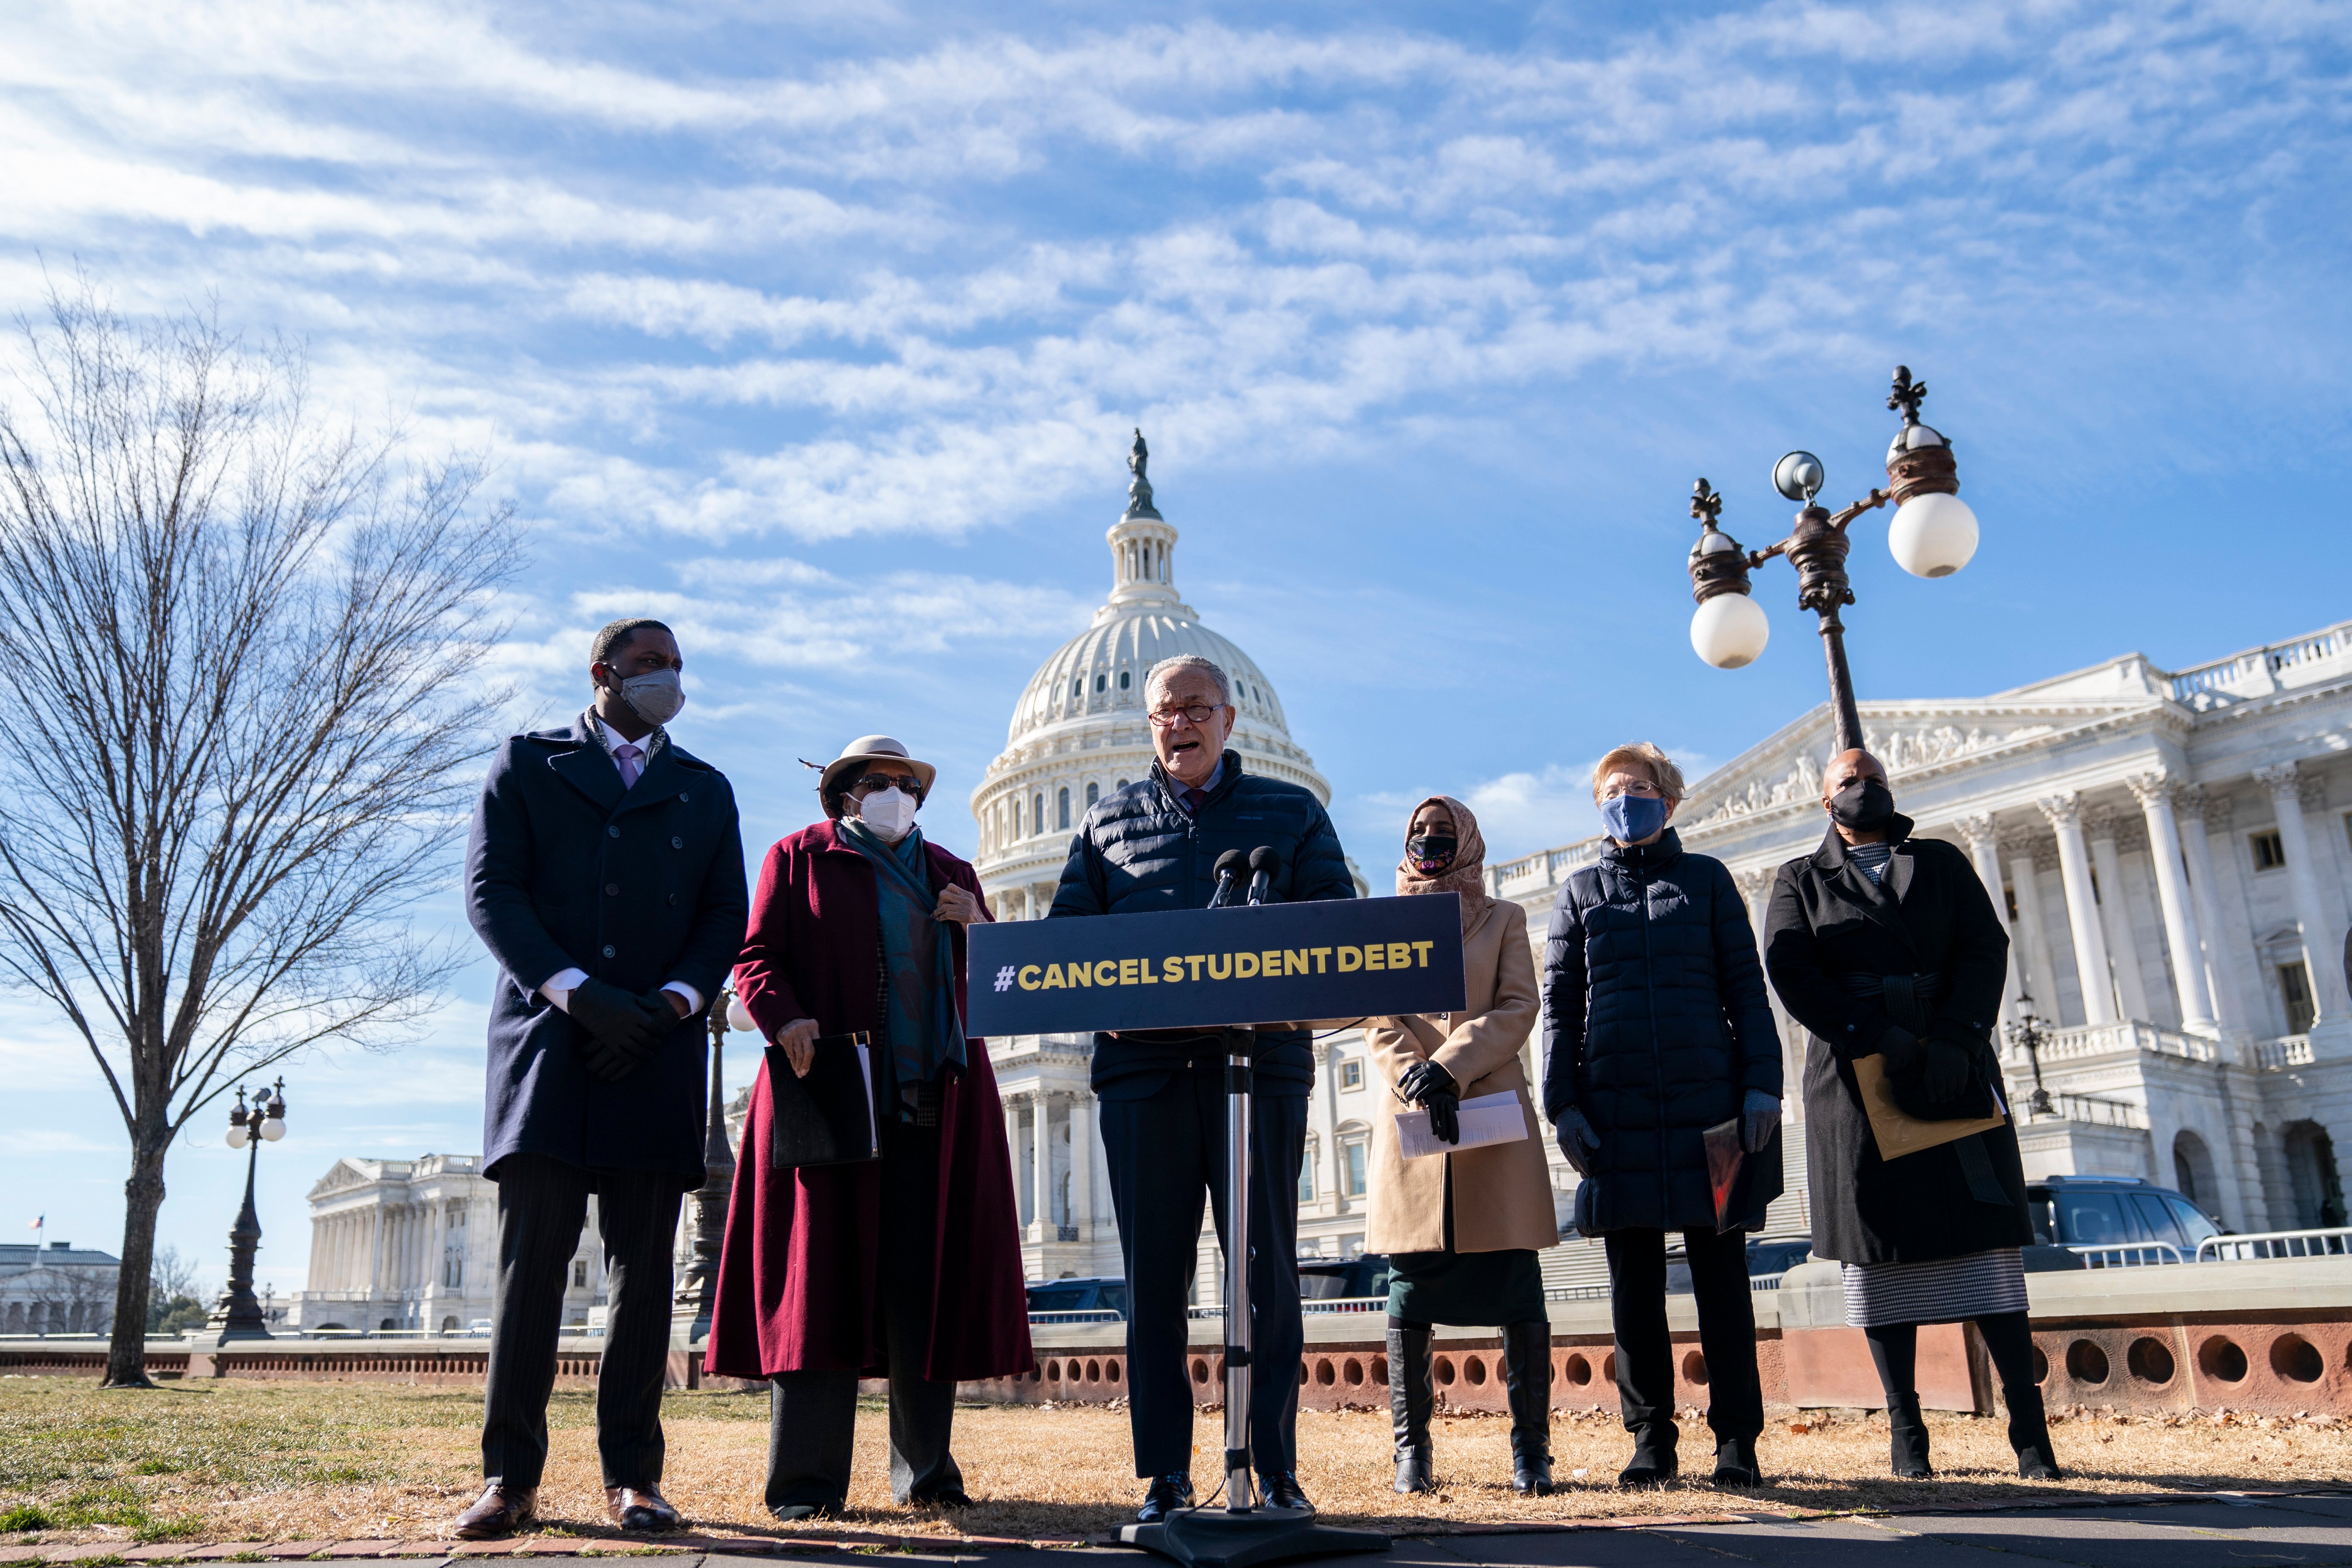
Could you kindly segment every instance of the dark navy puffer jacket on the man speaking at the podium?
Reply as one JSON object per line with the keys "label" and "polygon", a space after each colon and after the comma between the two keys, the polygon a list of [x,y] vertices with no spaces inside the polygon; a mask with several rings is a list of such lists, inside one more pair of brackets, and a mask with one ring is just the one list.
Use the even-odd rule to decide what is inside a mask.
{"label": "dark navy puffer jacket on the man speaking at the podium", "polygon": [[[1249,853],[1261,844],[1282,856],[1272,903],[1355,898],[1348,856],[1315,795],[1279,778],[1244,773],[1242,757],[1228,750],[1225,771],[1195,816],[1176,804],[1169,778],[1155,762],[1148,778],[1087,806],[1047,919],[1202,910],[1216,891],[1218,856],[1228,849]],[[1240,893],[1235,889],[1237,898]],[[1120,1039],[1096,1034],[1094,1088],[1110,1098],[1148,1095],[1185,1063],[1214,1060],[1214,1051],[1204,1053],[1204,1046],[1216,1039],[1192,1030],[1124,1030]],[[1296,1095],[1315,1084],[1315,1053],[1303,1030],[1261,1030],[1258,1046],[1258,1081],[1265,1093]]]}

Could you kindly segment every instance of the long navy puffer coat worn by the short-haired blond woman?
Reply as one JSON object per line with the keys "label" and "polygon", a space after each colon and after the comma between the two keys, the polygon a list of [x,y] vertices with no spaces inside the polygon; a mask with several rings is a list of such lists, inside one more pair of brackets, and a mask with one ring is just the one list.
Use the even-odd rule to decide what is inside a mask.
{"label": "long navy puffer coat worn by the short-haired blond woman", "polygon": [[[1602,1138],[1602,1229],[1715,1225],[1703,1133],[1780,1093],[1748,905],[1672,827],[1571,875],[1543,940],[1543,1112]],[[1771,1197],[1778,1182],[1766,1178]]]}

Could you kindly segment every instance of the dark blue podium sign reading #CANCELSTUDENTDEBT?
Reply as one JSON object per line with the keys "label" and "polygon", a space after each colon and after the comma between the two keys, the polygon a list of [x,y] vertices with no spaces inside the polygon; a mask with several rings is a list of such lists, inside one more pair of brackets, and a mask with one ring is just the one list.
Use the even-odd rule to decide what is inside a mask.
{"label": "dark blue podium sign reading #CANCELSTUDENTDEBT", "polygon": [[1454,893],[969,926],[971,1034],[1454,1013]]}

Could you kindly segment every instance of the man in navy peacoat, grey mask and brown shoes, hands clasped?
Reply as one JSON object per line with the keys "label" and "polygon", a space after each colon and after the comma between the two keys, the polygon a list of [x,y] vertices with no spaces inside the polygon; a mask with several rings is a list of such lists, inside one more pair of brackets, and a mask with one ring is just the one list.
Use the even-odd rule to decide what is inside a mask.
{"label": "man in navy peacoat, grey mask and brown shoes, hands clasped", "polygon": [[607,1267],[597,1373],[607,1512],[673,1528],[661,1500],[670,1244],[703,1182],[703,1013],[743,945],[734,790],[661,729],[684,703],[677,642],[616,621],[590,646],[595,703],[513,736],[466,846],[466,914],[499,961],[482,1171],[499,1182],[499,1276],[468,1540],[536,1509],[546,1406],[588,1199]]}

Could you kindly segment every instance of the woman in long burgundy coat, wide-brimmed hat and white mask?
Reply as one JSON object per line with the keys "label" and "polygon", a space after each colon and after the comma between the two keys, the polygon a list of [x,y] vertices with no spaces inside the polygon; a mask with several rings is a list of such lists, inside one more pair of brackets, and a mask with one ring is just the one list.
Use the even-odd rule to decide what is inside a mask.
{"label": "woman in long burgundy coat, wide-brimmed hat and white mask", "polygon": [[[750,1091],[706,1366],[767,1378],[767,1509],[840,1512],[858,1378],[889,1378],[898,1502],[967,1507],[955,1385],[1035,1368],[1011,1154],[988,1044],[964,1039],[964,860],[924,842],[934,769],[889,736],[826,766],[826,820],[760,867],[739,1006],[774,1044]],[[769,1072],[821,1034],[873,1034],[882,1157],[769,1168]]]}

